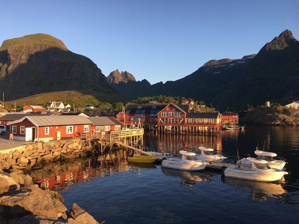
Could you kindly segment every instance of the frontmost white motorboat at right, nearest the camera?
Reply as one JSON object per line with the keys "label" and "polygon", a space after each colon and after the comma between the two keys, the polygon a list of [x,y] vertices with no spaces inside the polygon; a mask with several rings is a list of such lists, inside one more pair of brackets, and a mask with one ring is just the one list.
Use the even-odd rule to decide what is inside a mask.
{"label": "frontmost white motorboat at right, nearest the camera", "polygon": [[[251,166],[244,166],[243,163],[250,163]],[[263,182],[280,180],[285,174],[288,172],[269,167],[266,160],[250,157],[240,159],[236,165],[224,170],[225,177]]]}

